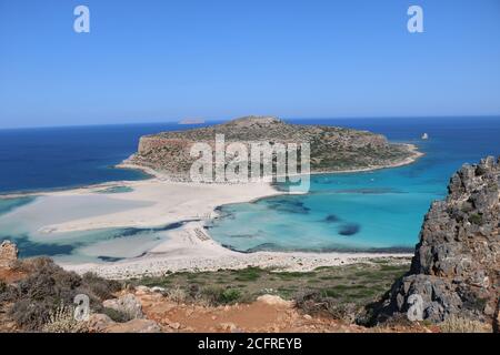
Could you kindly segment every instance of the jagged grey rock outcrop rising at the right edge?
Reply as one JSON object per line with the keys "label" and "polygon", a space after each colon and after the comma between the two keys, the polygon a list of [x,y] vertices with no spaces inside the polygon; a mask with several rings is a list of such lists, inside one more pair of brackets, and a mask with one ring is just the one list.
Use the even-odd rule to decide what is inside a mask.
{"label": "jagged grey rock outcrop rising at the right edge", "polygon": [[[458,315],[482,322],[498,316],[500,296],[500,158],[463,165],[446,201],[432,203],[411,270],[397,281],[377,321],[408,312],[420,295],[422,318]],[[414,296],[413,296],[414,298]]]}

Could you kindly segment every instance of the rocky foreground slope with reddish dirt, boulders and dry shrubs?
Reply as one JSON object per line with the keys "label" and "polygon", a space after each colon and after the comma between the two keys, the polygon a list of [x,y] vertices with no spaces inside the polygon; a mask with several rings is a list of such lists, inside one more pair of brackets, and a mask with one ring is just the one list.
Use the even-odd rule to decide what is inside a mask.
{"label": "rocky foreground slope with reddish dirt, boulders and dry shrubs", "polygon": [[[12,261],[10,256],[8,260]],[[137,282],[161,283],[153,278],[117,283],[92,274],[79,276],[43,257],[17,260],[10,265],[0,267],[0,333],[491,332],[488,324],[473,321],[453,321],[438,325],[408,321],[384,323],[376,327],[356,325],[352,322],[357,308],[348,306],[350,302],[339,303],[331,294],[317,298],[312,295],[319,296],[319,293],[306,292],[292,301],[286,301],[276,294],[263,294],[257,300],[248,298],[248,302],[242,300],[243,302],[237,303],[231,301],[233,298],[228,298],[231,294],[226,291],[231,288],[219,294],[218,286],[207,285],[208,293],[199,293],[201,286],[183,274],[179,274],[179,277],[190,280],[188,288],[182,288],[177,278],[169,278],[162,287],[136,285]],[[380,267],[383,268],[382,266],[390,265],[383,264]],[[338,272],[344,272],[342,266],[338,267]],[[232,271],[226,272],[232,274]],[[251,275],[251,270],[246,274]],[[240,278],[242,275],[244,274],[236,277]],[[298,280],[293,273],[281,276],[284,275],[292,277],[290,282]],[[164,277],[171,276],[173,275]],[[304,274],[304,278],[307,277],[310,275]],[[267,290],[262,288],[260,278],[247,277],[239,283],[244,280],[254,283],[261,291]],[[346,286],[349,286],[349,282]],[[272,292],[271,288],[268,290]],[[74,318],[73,300],[77,294],[86,294],[90,298],[91,314],[87,321]],[[223,300],[220,298],[221,295],[224,295]]]}

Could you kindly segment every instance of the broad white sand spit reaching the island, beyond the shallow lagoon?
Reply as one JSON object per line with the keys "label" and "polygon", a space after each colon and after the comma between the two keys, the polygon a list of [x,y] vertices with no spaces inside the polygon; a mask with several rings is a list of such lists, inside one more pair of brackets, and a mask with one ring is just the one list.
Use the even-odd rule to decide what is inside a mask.
{"label": "broad white sand spit reaching the island, beyond the shallow lagoon", "polygon": [[[102,196],[103,189],[126,186],[132,189],[126,193],[106,194],[101,203],[123,202],[130,209],[114,213],[98,214],[71,221],[50,224],[43,227],[46,233],[62,233],[117,227],[154,227],[169,223],[190,220],[208,220],[214,216],[217,206],[239,203],[280,194],[270,184],[202,184],[161,181],[151,179],[136,182],[120,182],[92,187],[59,191],[39,194],[44,197],[44,207],[50,209],[57,199],[74,200],[74,209],[82,211],[86,203],[96,195]],[[74,199],[78,197],[78,199]],[[141,203],[142,206],[134,206]],[[72,207],[71,204],[67,205]],[[39,206],[40,210],[43,206]]]}

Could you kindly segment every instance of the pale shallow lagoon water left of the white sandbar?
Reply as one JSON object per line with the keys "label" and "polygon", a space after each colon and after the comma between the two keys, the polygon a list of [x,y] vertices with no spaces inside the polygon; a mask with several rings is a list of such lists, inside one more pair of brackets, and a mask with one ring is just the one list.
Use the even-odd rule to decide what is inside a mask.
{"label": "pale shallow lagoon water left of the white sandbar", "polygon": [[[111,195],[114,193],[117,192],[111,192]],[[52,197],[50,211],[47,211],[47,207],[42,207],[43,199],[46,197],[0,200],[0,241],[14,241],[21,257],[48,255],[57,261],[68,262],[137,257],[164,241],[169,230],[182,225],[174,223],[156,229],[44,233],[41,229],[47,225],[126,211],[149,203],[110,200],[104,194],[92,197],[59,196]]]}

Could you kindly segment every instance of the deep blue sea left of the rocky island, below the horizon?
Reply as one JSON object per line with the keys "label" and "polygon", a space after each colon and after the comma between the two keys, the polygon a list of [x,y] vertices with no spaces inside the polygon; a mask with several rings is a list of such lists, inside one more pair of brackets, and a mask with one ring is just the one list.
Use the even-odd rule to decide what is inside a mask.
{"label": "deep blue sea left of the rocky island, below the horizon", "polygon": [[188,128],[192,125],[0,130],[0,193],[146,179],[139,171],[113,169],[113,165],[137,151],[141,135]]}

